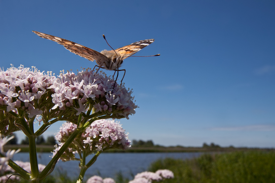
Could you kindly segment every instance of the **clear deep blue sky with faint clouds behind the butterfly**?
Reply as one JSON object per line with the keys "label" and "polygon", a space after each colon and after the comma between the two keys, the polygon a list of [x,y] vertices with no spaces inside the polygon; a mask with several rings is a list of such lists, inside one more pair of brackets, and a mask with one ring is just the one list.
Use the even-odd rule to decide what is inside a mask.
{"label": "clear deep blue sky with faint clouds behind the butterfly", "polygon": [[97,51],[110,50],[102,34],[114,49],[153,38],[135,55],[161,56],[121,66],[140,107],[120,120],[131,140],[275,148],[274,20],[274,1],[0,0],[0,66],[94,67],[32,30]]}

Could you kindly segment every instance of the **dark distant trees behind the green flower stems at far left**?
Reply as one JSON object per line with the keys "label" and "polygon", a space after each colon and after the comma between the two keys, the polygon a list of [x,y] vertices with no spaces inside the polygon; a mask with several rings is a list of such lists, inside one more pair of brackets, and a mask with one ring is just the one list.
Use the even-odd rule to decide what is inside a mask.
{"label": "dark distant trees behind the green flower stems at far left", "polygon": [[[8,141],[7,145],[17,144],[18,138],[17,138],[16,134],[13,134],[11,136],[14,136],[14,138],[11,139],[10,141]],[[45,140],[42,135],[35,139],[35,143],[37,145],[55,145],[55,144],[57,144],[54,136],[48,136],[47,139]],[[25,139],[23,139],[21,141],[21,144],[29,144],[29,139],[27,136],[25,137]]]}

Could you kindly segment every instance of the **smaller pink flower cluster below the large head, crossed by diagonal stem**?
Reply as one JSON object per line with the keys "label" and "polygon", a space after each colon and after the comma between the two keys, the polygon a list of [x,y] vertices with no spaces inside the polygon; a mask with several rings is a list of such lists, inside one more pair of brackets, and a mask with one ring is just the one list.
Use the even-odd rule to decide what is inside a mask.
{"label": "smaller pink flower cluster below the large head, crossed by diagonal stem", "polygon": [[[67,122],[60,127],[55,139],[60,142],[53,151],[53,156],[75,131],[77,125]],[[75,153],[86,151],[86,155],[103,151],[104,149],[127,149],[130,147],[128,133],[119,122],[114,120],[96,120],[86,130],[74,139],[69,148],[60,157],[61,160],[77,160]],[[89,148],[87,148],[89,147]]]}

